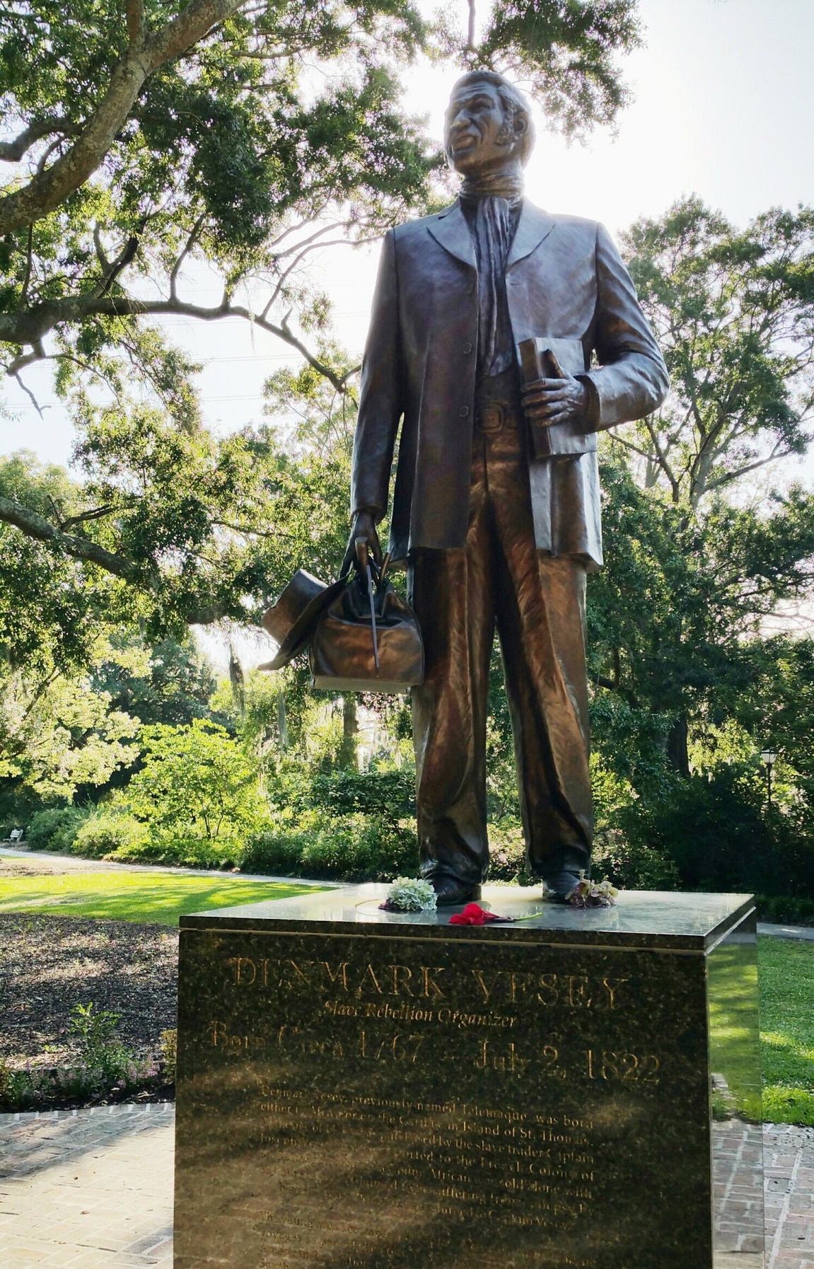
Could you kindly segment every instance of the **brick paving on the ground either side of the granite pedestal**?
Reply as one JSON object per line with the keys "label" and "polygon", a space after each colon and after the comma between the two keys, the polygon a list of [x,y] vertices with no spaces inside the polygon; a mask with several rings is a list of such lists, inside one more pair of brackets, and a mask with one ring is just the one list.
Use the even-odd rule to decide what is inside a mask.
{"label": "brick paving on the ground either side of the granite pedestal", "polygon": [[[171,1104],[0,1115],[3,1269],[171,1269],[174,1123]],[[737,1136],[719,1225],[753,1199],[754,1142]],[[814,1128],[767,1124],[763,1151],[766,1269],[814,1269]],[[759,1264],[757,1230],[715,1269]]]}

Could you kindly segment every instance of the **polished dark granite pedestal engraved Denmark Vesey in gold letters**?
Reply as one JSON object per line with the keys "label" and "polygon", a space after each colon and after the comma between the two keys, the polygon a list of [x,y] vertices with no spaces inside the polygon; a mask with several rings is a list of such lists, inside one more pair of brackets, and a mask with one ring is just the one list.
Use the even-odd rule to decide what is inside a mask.
{"label": "polished dark granite pedestal engraved Denmark Vesey in gold letters", "polygon": [[754,909],[181,917],[176,1269],[762,1269]]}

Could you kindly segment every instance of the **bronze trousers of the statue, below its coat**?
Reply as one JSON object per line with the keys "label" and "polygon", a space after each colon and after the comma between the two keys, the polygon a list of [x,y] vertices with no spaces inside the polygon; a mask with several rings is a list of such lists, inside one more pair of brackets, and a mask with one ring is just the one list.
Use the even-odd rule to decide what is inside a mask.
{"label": "bronze trousers of the statue, below its coat", "polygon": [[412,692],[421,874],[472,883],[486,877],[489,859],[486,722],[496,626],[531,874],[587,868],[593,831],[586,569],[579,557],[535,547],[522,414],[512,392],[502,397],[477,409],[467,546],[416,552],[408,577],[426,656],[425,681]]}

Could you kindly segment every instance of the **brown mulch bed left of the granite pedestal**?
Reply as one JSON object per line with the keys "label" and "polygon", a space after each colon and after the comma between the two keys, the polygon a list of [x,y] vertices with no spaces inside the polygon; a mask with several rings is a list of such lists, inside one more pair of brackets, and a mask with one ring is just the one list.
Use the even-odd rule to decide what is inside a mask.
{"label": "brown mulch bed left of the granite pedestal", "polygon": [[178,930],[89,917],[0,914],[0,1058],[58,1066],[74,1060],[74,1005],[119,1015],[122,1042],[157,1053],[175,1027]]}

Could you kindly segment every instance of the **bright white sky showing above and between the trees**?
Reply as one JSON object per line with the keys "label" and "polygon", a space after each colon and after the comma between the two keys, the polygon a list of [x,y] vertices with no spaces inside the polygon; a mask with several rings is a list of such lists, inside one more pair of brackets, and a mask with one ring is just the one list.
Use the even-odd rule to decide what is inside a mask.
{"label": "bright white sky showing above and between the trees", "polygon": [[[455,3],[463,22],[465,4]],[[611,231],[636,216],[657,216],[687,193],[735,223],[770,206],[814,203],[811,0],[642,0],[640,10],[645,47],[625,63],[635,99],[619,119],[617,136],[601,132],[568,147],[538,118],[527,169],[533,201],[596,217]],[[408,105],[429,114],[434,137],[441,135],[456,74],[430,67],[408,76]],[[339,247],[318,265],[337,334],[354,352],[364,341],[377,255],[375,249]],[[207,294],[205,275],[195,278],[198,301],[214,294]],[[261,418],[264,379],[292,360],[281,344],[238,320],[178,320],[169,330],[207,363],[200,387],[214,429]],[[0,419],[0,452],[25,447],[44,461],[67,462],[71,425],[53,404],[49,371],[29,371],[27,382],[51,405],[41,419],[16,385],[8,385],[14,412]]]}

